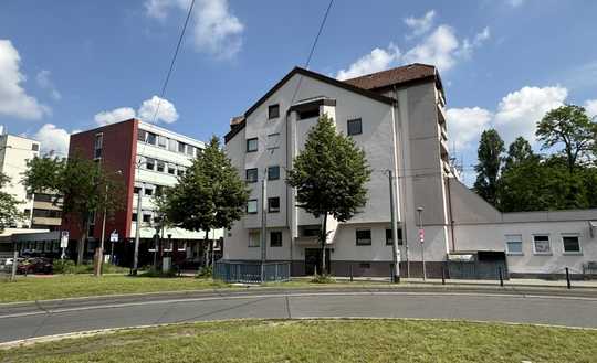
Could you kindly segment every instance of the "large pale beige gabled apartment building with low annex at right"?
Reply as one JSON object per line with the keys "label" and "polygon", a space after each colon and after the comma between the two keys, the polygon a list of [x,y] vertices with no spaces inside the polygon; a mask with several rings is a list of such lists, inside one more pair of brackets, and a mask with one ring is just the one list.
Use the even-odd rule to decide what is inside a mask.
{"label": "large pale beige gabled apartment building with low annex at right", "polygon": [[[251,197],[247,215],[226,232],[223,258],[261,259],[261,214],[265,211],[266,259],[292,261],[293,275],[314,271],[321,256],[316,235],[322,221],[296,206],[295,191],[284,182],[284,170],[293,167],[308,130],[326,114],[339,132],[350,136],[365,150],[374,170],[362,213],[346,223],[328,217],[332,274],[389,276],[392,243],[387,170],[397,175],[402,270],[420,276],[425,258],[428,276],[440,276],[447,264],[473,260],[483,266],[503,264],[513,274],[546,273],[548,269],[543,267],[525,269],[524,265],[532,263],[521,261],[505,248],[509,243],[514,246],[506,241],[511,236],[530,233],[517,228],[516,221],[522,217],[502,215],[458,181],[449,163],[444,107],[441,78],[430,65],[412,64],[347,81],[298,67],[291,71],[242,116],[234,117],[226,136],[227,153],[247,179]],[[262,200],[260,184],[264,179],[266,201]],[[471,199],[476,203],[471,204]],[[419,207],[423,209],[421,215]],[[478,213],[489,213],[493,220],[475,224]],[[579,229],[564,228],[562,233],[578,233],[583,236],[579,243],[594,246],[595,237],[585,236],[589,236],[588,222],[596,221],[597,213],[585,211],[579,215],[582,218],[574,222],[578,222]],[[425,229],[422,244],[419,216]],[[469,216],[473,221],[467,220]],[[552,222],[538,216],[531,220],[528,223],[538,229]],[[528,226],[527,222],[523,224]],[[474,237],[474,233],[484,237]],[[597,260],[593,247],[583,250],[585,255],[575,261],[576,267]],[[463,260],[469,255],[470,260]],[[542,265],[543,257],[537,256],[536,264]],[[567,260],[557,260],[564,263]]]}

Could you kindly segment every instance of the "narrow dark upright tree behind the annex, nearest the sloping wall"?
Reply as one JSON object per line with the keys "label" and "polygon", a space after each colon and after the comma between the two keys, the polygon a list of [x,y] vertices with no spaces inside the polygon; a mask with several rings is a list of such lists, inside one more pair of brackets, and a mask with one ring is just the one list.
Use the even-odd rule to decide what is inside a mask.
{"label": "narrow dark upright tree behind the annex, nearest the sloping wall", "polygon": [[496,130],[490,129],[481,134],[476,158],[479,163],[474,167],[476,181],[474,191],[485,201],[498,205],[498,180],[502,166],[504,141]]}

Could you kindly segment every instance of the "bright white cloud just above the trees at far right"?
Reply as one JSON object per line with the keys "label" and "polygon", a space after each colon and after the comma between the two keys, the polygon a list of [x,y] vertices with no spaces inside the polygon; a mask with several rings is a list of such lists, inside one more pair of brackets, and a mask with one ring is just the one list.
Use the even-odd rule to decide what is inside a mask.
{"label": "bright white cloud just above the trees at far right", "polygon": [[568,96],[568,89],[554,87],[522,87],[502,98],[495,113],[495,128],[506,143],[517,136],[535,141],[536,122],[547,111],[559,107]]}

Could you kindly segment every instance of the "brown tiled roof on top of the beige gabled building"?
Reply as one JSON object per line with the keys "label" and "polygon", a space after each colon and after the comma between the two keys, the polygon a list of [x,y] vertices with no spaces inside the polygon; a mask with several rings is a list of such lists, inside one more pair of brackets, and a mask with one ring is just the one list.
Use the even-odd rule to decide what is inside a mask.
{"label": "brown tiled roof on top of the beige gabled building", "polygon": [[379,89],[392,86],[395,84],[408,83],[434,76],[434,66],[413,63],[401,67],[367,74],[356,78],[345,79],[344,82],[359,88]]}

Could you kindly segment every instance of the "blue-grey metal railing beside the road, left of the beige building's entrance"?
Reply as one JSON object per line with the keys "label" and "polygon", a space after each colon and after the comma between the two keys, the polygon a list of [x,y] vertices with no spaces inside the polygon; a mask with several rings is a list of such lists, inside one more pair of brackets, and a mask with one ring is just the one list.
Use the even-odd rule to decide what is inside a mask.
{"label": "blue-grey metal railing beside the road, left of the beige building's entrance", "polygon": [[217,261],[213,277],[224,282],[261,284],[290,280],[290,263]]}

